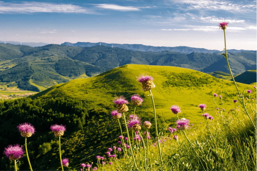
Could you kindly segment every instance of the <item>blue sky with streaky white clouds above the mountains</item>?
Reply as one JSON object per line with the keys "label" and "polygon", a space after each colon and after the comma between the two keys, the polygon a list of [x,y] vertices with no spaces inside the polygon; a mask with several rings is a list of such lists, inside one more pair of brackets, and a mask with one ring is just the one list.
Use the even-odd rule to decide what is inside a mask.
{"label": "blue sky with streaky white clouds above the mountains", "polygon": [[256,50],[256,1],[0,0],[0,40]]}

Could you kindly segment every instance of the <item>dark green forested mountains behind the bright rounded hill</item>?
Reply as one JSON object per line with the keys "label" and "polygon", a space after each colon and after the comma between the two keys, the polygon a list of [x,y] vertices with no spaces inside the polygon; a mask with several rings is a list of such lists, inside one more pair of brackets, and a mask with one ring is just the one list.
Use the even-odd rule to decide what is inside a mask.
{"label": "dark green forested mountains behind the bright rounded hill", "polygon": [[[229,52],[233,74],[256,69],[256,51]],[[0,44],[0,80],[9,86],[42,91],[75,78],[87,78],[126,64],[163,65],[205,73],[229,73],[221,53],[140,52],[108,46],[40,47]]]}

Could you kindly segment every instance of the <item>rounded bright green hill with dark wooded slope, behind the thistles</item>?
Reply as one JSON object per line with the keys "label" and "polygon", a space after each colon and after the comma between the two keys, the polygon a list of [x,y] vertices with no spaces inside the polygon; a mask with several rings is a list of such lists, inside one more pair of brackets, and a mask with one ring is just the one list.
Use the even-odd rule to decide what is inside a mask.
{"label": "rounded bright green hill with dark wooded slope, behind the thistles", "polygon": [[[117,120],[111,118],[111,111],[116,109],[112,100],[123,95],[129,102],[133,94],[139,94],[144,102],[136,108],[136,114],[143,121],[153,121],[153,109],[149,92],[143,92],[136,76],[149,73],[153,76],[155,88],[152,90],[158,118],[158,127],[174,127],[177,116],[170,111],[171,105],[179,105],[179,117],[190,119],[198,125],[204,122],[198,105],[205,103],[206,112],[214,116],[216,105],[213,93],[221,95],[226,111],[234,108],[233,99],[237,99],[235,86],[231,81],[217,79],[208,74],[179,67],[129,64],[114,68],[92,78],[74,79],[57,84],[39,92],[30,98],[0,102],[1,144],[24,144],[16,126],[30,122],[36,133],[29,139],[32,151],[30,160],[40,170],[55,170],[60,167],[58,140],[50,132],[51,124],[63,124],[67,132],[61,138],[64,157],[70,159],[71,168],[80,163],[96,162],[96,155],[105,155],[108,147],[116,145],[120,130]],[[238,83],[238,88],[256,90],[247,84]],[[221,101],[216,98],[219,108]],[[126,117],[133,114],[134,107],[128,104]],[[173,123],[173,124],[172,124]],[[8,127],[7,127],[8,125]],[[150,129],[154,135],[154,127]],[[14,138],[15,137],[15,138]],[[16,137],[19,137],[18,139]],[[8,169],[7,158],[1,159],[1,170]],[[25,162],[24,162],[25,163]],[[26,164],[20,163],[21,170],[27,170]],[[60,168],[59,168],[60,169]]]}

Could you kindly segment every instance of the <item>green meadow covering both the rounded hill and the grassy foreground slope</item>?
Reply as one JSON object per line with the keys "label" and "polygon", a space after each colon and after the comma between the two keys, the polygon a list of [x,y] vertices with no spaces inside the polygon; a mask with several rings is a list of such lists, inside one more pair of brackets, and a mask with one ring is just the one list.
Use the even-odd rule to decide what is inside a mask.
{"label": "green meadow covering both the rounded hill and the grassy foreground slope", "polygon": [[[160,161],[157,148],[152,146],[155,143],[152,101],[148,96],[149,92],[143,92],[141,83],[136,80],[141,73],[147,73],[154,78],[155,88],[151,92],[163,142],[165,137],[174,136],[174,133],[169,133],[167,127],[176,128],[177,115],[171,112],[170,107],[178,105],[181,108],[179,118],[189,119],[190,124],[194,124],[185,132],[190,141],[196,143],[197,155],[185,136],[183,135],[182,140],[182,133],[177,132],[178,143],[173,139],[167,140],[168,144],[165,141],[162,145],[164,163]],[[237,86],[240,92],[245,90],[246,97],[246,90],[252,90],[250,99],[253,100],[247,101],[247,108],[256,124],[256,89],[253,89],[254,85],[243,83],[238,83]],[[222,96],[227,118],[218,113],[214,99],[219,109],[222,109],[223,105],[219,97],[213,96],[214,93]],[[130,157],[123,159],[124,154],[118,152],[117,158],[120,161],[113,160],[113,165],[107,165],[110,162],[106,155],[107,148],[114,145],[118,147],[118,136],[121,135],[118,121],[111,117],[111,111],[116,109],[112,101],[115,97],[124,96],[130,102],[133,94],[139,94],[144,100],[142,105],[136,107],[136,115],[142,118],[142,121],[148,120],[152,123],[149,129],[150,147],[147,148],[149,162],[142,160],[143,149],[139,143],[139,146],[133,146],[138,167],[132,164],[131,154],[128,153]],[[24,139],[16,126],[24,122],[34,125],[35,135],[28,138],[30,160],[34,170],[61,170],[59,140],[49,129],[50,125],[56,123],[66,125],[67,128],[67,132],[61,137],[61,149],[62,158],[69,159],[71,170],[80,169],[81,163],[93,162],[92,166],[97,166],[97,155],[106,158],[106,166],[98,164],[98,170],[252,170],[256,168],[256,164],[253,164],[256,148],[252,149],[250,144],[256,147],[256,136],[252,140],[249,137],[253,137],[251,131],[254,132],[255,129],[250,125],[239,103],[236,104],[239,108],[234,109],[233,100],[237,99],[237,95],[232,81],[218,79],[203,72],[170,66],[128,64],[92,78],[74,79],[54,85],[28,98],[0,102],[0,128],[3,130],[0,140],[4,147],[16,143],[23,145]],[[214,117],[210,122],[214,134],[211,138],[202,116],[203,111],[198,107],[202,103],[207,105],[204,112]],[[125,112],[126,119],[134,113],[134,106],[131,103],[127,106],[129,110]],[[122,119],[121,122],[123,123]],[[123,135],[126,136],[124,126],[122,124]],[[141,133],[144,131],[142,128]],[[249,142],[245,139],[247,136]],[[236,137],[236,140],[231,137]],[[249,144],[245,145],[247,143]],[[239,162],[241,154],[245,159]],[[201,164],[204,162],[206,165]],[[2,157],[1,163],[1,170],[14,169],[8,158]],[[17,166],[20,170],[29,168],[25,157],[19,160]],[[68,170],[67,167],[64,169]]]}

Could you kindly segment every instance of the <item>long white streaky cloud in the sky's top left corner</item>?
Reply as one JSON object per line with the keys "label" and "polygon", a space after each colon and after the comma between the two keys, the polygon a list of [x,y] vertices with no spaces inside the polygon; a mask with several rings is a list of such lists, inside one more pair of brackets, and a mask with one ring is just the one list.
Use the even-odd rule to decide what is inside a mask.
{"label": "long white streaky cloud in the sky's top left corner", "polygon": [[[18,1],[19,2],[19,1]],[[0,13],[84,13],[96,14],[93,9],[72,4],[55,4],[49,2],[2,2]]]}

